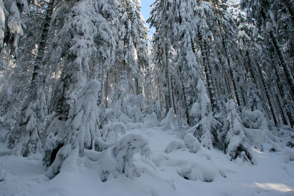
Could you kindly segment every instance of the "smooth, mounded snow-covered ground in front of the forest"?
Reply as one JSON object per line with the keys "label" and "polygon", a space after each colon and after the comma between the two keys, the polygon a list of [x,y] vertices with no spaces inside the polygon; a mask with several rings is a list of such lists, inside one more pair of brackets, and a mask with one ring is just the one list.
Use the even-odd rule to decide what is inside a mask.
{"label": "smooth, mounded snow-covered ground in front of the forest", "polygon": [[[7,155],[9,150],[1,142],[7,131],[0,128],[0,175],[5,177],[0,195],[294,195],[293,148],[266,143],[263,152],[252,148],[257,162],[252,165],[241,158],[230,161],[217,149],[201,147],[190,153],[181,148],[184,140],[179,130],[135,127],[128,127],[127,134],[147,138],[153,154],[150,159],[133,156],[139,177],[108,175],[105,182],[99,176],[101,165],[86,156],[72,170],[61,170],[49,180],[41,154],[26,158]],[[167,153],[169,143],[171,152]],[[171,148],[177,145],[179,149]],[[269,152],[273,145],[280,152]]]}

